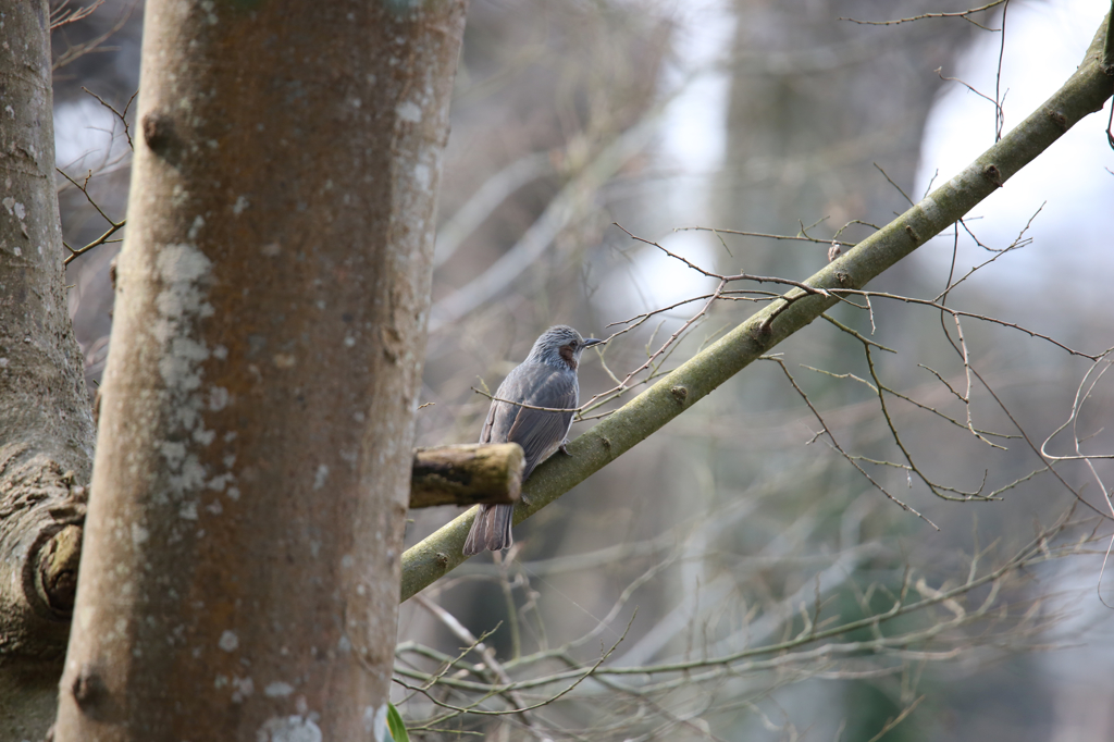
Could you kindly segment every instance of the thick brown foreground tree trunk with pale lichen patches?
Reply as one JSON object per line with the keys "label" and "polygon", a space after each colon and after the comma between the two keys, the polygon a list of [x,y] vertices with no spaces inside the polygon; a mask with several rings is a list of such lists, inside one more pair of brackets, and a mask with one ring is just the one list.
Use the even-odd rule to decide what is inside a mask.
{"label": "thick brown foreground tree trunk with pale lichen patches", "polygon": [[152,1],[55,739],[383,739],[462,0]]}

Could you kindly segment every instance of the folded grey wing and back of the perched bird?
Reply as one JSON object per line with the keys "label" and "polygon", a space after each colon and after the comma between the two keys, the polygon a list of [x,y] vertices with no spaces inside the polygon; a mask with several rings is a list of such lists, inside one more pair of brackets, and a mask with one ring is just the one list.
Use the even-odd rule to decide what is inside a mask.
{"label": "folded grey wing and back of the perched bird", "polygon": [[534,467],[549,458],[564,442],[573,423],[579,392],[575,373],[544,363],[519,365],[499,385],[497,398],[568,412],[494,402],[488,412],[490,426],[485,426],[486,431],[490,427],[488,442],[507,441],[521,446],[526,453],[526,467],[522,469],[522,479],[526,479]]}

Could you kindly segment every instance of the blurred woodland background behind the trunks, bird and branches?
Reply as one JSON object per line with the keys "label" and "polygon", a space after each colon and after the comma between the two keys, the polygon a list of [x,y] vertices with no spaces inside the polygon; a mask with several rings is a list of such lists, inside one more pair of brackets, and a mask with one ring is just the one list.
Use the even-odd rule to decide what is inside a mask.
{"label": "blurred woodland background behind the trunks, bird and branches", "polygon": [[[906,208],[903,194],[917,201],[937,170],[940,183],[991,144],[999,111],[1006,129],[1028,115],[1079,62],[1103,6],[1015,1],[877,27],[840,19],[967,7],[473,0],[442,179],[422,400],[433,404],[419,412],[418,443],[475,440],[488,400],[470,388],[482,380],[494,389],[549,324],[604,336],[617,329],[613,322],[714,289],[613,223],[709,270],[802,280],[825,263],[837,233],[849,242],[864,237],[870,225]],[[125,111],[138,82],[140,16],[139,6],[108,0],[55,35],[58,165],[82,184],[92,172],[87,189],[104,212],[60,179],[63,228],[75,247],[124,217],[125,123],[134,124]],[[1039,74],[1023,66],[1026,58],[1037,60]],[[957,77],[977,92],[944,79]],[[968,104],[975,108],[964,109]],[[954,290],[949,305],[1087,353],[1114,345],[1098,279],[1110,261],[1102,248],[1110,244],[1114,157],[1098,118],[1010,180],[957,238],[941,235],[871,289],[935,299],[949,272],[955,281],[998,254],[990,251],[1013,246]],[[803,232],[822,242],[674,232],[693,226]],[[69,266],[70,307],[92,384],[107,350],[113,253],[104,245]],[[608,370],[622,378],[638,367],[695,306],[620,335],[603,362],[586,357],[583,396],[612,387]],[[399,678],[411,686],[438,681],[426,693],[398,687],[412,733],[1110,738],[1114,657],[1102,648],[1110,621],[1100,597],[1114,601],[1100,582],[1106,541],[1086,540],[1092,529],[1100,537],[1111,530],[1096,515],[1110,512],[1095,484],[1108,480],[1103,461],[1068,461],[1057,466],[1059,478],[1027,478],[1046,462],[1024,439],[988,436],[1003,447],[994,448],[961,429],[968,406],[941,379],[962,392],[965,367],[940,312],[877,300],[874,309],[867,316],[839,307],[831,316],[898,351],[871,354],[886,387],[960,423],[890,398],[890,420],[918,465],[967,491],[1024,481],[1001,499],[952,502],[907,470],[862,463],[935,530],[817,436],[820,423],[782,367],[754,364],[518,527],[518,544],[504,558],[475,559],[403,604]],[[750,312],[746,302],[716,304],[663,368]],[[976,381],[974,426],[1023,430],[1039,447],[1068,419],[1092,362],[1009,328],[967,321],[964,331],[970,363],[994,392]],[[814,323],[776,350],[846,451],[902,462],[877,394],[859,381],[877,383],[861,342]],[[1086,452],[1112,450],[1111,433],[1101,430],[1111,402],[1103,377],[1077,420],[1078,438],[1089,437]],[[1069,453],[1069,442],[1049,452]],[[1075,526],[1038,538],[1073,507],[1066,517]],[[413,515],[408,543],[452,515]],[[1046,559],[1064,551],[1077,554]],[[940,598],[997,568],[1004,572],[996,587]],[[885,613],[902,592],[909,602],[937,603],[838,637],[858,648],[824,653],[825,642],[803,642],[710,666],[706,675],[597,674],[549,701],[613,645],[607,667],[722,656],[792,642],[811,625]],[[482,637],[488,654],[446,664],[472,644],[469,637]],[[1079,643],[1089,648],[1073,648]],[[576,671],[566,681],[482,693],[500,678],[528,683],[566,666]],[[546,705],[495,717],[446,707],[477,701],[473,711]]]}

